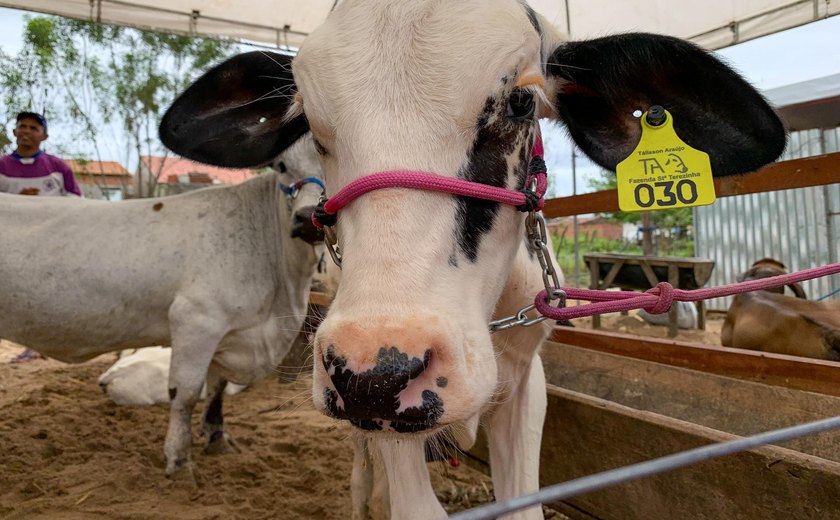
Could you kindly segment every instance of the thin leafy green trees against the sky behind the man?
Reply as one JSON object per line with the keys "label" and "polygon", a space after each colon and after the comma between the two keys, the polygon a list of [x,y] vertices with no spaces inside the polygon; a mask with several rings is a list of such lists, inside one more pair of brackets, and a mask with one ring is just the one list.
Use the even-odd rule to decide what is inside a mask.
{"label": "thin leafy green trees against the sky behind the man", "polygon": [[[65,147],[73,143],[75,155],[87,148],[101,160],[110,146],[109,155],[125,164],[133,156],[166,153],[157,140],[165,108],[199,73],[236,50],[229,41],[69,18],[26,17],[25,23],[20,53],[0,53],[7,121],[23,109],[46,112],[70,129],[70,136],[57,137]],[[153,194],[159,175],[152,172],[139,191]]]}

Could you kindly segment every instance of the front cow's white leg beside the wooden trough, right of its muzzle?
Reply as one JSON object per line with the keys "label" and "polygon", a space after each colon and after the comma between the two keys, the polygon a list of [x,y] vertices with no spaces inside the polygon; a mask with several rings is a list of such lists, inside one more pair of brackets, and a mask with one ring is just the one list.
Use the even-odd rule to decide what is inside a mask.
{"label": "front cow's white leg beside the wooden trough, right of its muzzle", "polygon": [[[487,437],[490,468],[496,500],[506,500],[539,489],[540,442],[548,399],[542,360],[533,357],[530,366],[514,370],[499,367],[501,381],[512,382],[509,398],[489,417]],[[505,520],[542,519],[537,506],[504,517]]]}

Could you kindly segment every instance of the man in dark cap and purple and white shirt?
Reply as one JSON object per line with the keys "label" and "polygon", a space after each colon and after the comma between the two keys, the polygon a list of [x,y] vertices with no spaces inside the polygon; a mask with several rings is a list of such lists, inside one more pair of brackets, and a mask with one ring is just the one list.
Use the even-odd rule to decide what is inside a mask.
{"label": "man in dark cap and purple and white shirt", "polygon": [[41,151],[47,139],[47,120],[35,112],[21,112],[14,129],[17,148],[0,157],[0,192],[19,195],[82,196],[67,163]]}

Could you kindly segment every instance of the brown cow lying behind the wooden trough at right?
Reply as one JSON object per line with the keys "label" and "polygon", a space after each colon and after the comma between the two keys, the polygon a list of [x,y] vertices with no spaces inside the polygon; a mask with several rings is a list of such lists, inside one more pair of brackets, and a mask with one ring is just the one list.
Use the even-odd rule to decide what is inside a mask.
{"label": "brown cow lying behind the wooden trough at right", "polygon": [[[786,272],[783,263],[764,258],[738,281]],[[796,297],[783,294],[784,287],[736,295],[721,329],[721,344],[840,361],[840,301],[807,300],[798,284],[790,288]]]}

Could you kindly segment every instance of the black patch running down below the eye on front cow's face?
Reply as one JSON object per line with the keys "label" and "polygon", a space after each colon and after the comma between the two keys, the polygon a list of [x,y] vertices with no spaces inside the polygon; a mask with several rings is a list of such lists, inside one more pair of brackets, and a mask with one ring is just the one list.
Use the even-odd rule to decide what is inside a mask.
{"label": "black patch running down below the eye on front cow's face", "polygon": [[[467,164],[459,176],[490,186],[504,187],[507,183],[507,157],[529,135],[531,125],[513,123],[506,117],[507,98],[488,98],[478,116],[478,133]],[[493,119],[493,116],[496,116]],[[517,168],[518,185],[525,182],[531,151],[522,147]],[[458,246],[470,262],[478,258],[481,238],[493,227],[499,204],[482,199],[458,197],[457,219],[460,233]]]}

